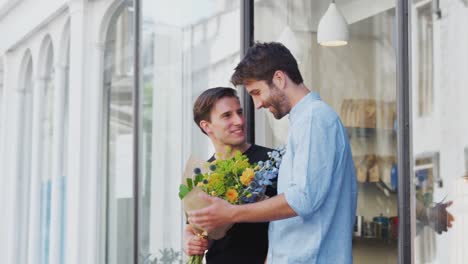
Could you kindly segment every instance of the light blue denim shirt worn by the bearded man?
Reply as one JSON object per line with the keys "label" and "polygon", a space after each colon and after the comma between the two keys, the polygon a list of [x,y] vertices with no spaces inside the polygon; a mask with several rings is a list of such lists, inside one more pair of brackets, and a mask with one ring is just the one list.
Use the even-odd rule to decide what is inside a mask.
{"label": "light blue denim shirt worn by the bearded man", "polygon": [[316,93],[289,114],[286,154],[278,176],[298,216],[269,227],[268,263],[353,263],[356,172],[338,115]]}

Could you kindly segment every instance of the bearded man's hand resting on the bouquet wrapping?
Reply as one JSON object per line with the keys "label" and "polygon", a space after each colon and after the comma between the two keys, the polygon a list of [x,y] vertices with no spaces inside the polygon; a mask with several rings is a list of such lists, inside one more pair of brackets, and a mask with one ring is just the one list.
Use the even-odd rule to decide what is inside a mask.
{"label": "bearded man's hand resting on the bouquet wrapping", "polygon": [[211,205],[200,210],[187,212],[188,221],[191,224],[202,228],[209,234],[217,227],[234,223],[234,205],[223,199],[208,195],[203,195],[203,199],[209,200]]}

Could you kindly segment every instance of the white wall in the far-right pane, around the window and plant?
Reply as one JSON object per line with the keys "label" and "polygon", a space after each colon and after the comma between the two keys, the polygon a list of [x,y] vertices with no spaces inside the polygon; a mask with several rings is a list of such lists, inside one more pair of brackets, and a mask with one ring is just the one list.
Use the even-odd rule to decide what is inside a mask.
{"label": "white wall in the far-right pane, around the window and plant", "polygon": [[[430,2],[430,1],[429,1]],[[430,3],[429,3],[430,4]],[[468,257],[468,183],[464,148],[468,142],[468,8],[465,1],[440,1],[442,17],[434,21],[434,104],[433,112],[419,117],[417,112],[417,63],[413,63],[413,154],[440,154],[440,176],[443,187],[434,190],[434,202],[453,201],[448,211],[455,217],[447,233],[435,236],[430,263],[462,263]],[[413,12],[414,9],[413,9]],[[413,16],[413,24],[415,16]],[[413,34],[416,38],[417,32]],[[413,43],[412,50],[417,49]],[[416,54],[417,55],[417,54]],[[413,56],[413,62],[417,57]],[[416,247],[427,247],[417,240]],[[422,252],[422,251],[421,251]],[[424,256],[416,254],[419,263]]]}

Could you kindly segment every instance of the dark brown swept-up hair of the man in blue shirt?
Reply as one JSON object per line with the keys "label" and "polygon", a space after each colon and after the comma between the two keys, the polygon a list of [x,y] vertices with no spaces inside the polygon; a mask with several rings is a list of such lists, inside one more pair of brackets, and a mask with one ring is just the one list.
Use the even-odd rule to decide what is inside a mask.
{"label": "dark brown swept-up hair of the man in blue shirt", "polygon": [[271,84],[277,70],[285,72],[296,84],[304,82],[296,59],[283,44],[257,42],[247,50],[247,54],[234,69],[231,82],[240,85],[256,80]]}

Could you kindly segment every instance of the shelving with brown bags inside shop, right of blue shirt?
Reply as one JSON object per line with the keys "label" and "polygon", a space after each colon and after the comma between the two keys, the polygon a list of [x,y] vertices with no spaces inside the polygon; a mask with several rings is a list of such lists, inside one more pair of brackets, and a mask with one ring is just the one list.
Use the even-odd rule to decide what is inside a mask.
{"label": "shelving with brown bags inside shop, right of blue shirt", "polygon": [[362,226],[355,230],[353,238],[355,263],[375,263],[382,256],[388,263],[397,262],[396,237],[390,234],[388,226],[383,237],[381,224],[374,223],[376,217],[398,214],[396,184],[394,181],[392,187],[391,177],[397,140],[393,129],[394,106],[392,102],[372,99],[347,99],[341,109],[358,177],[356,214]]}

